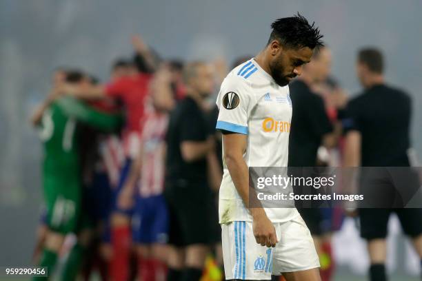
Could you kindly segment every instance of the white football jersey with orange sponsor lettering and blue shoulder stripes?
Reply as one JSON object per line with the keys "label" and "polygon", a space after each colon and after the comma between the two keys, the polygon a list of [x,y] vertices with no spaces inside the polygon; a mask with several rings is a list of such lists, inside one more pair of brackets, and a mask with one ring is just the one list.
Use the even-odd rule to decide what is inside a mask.
{"label": "white football jersey with orange sponsor lettering and blue shoulder stripes", "polygon": [[[277,85],[257,61],[250,59],[225,77],[217,97],[217,106],[217,129],[248,136],[248,145],[243,155],[248,167],[288,166],[292,120],[288,86]],[[224,161],[223,166],[219,191],[220,223],[252,221]],[[292,220],[299,214],[294,207],[265,208],[265,212],[272,222]]]}

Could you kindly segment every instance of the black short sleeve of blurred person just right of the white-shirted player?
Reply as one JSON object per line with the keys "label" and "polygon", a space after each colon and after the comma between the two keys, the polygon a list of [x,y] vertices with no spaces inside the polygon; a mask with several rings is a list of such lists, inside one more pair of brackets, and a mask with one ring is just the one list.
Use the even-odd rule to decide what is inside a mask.
{"label": "black short sleeve of blurred person just right of the white-shirted player", "polygon": [[306,105],[310,106],[307,112],[314,134],[316,136],[323,136],[332,132],[332,124],[330,119],[328,119],[323,99],[320,96],[316,96],[316,94],[312,94],[310,97],[312,98],[312,102],[306,103]]}

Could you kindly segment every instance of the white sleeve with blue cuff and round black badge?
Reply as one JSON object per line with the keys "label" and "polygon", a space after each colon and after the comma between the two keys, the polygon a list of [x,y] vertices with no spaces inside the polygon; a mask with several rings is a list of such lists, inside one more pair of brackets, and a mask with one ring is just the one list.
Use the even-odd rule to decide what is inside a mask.
{"label": "white sleeve with blue cuff and round black badge", "polygon": [[216,129],[248,134],[248,118],[256,101],[241,77],[227,77],[223,81],[216,103],[219,107]]}

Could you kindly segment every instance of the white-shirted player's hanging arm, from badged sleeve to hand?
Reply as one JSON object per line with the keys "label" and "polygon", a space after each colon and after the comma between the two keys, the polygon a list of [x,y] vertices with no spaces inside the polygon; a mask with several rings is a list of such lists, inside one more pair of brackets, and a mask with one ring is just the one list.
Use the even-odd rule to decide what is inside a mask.
{"label": "white-shirted player's hanging arm, from badged sleeve to hand", "polygon": [[[249,170],[243,159],[249,134],[248,116],[257,101],[250,86],[239,76],[226,78],[217,98],[219,118],[216,128],[223,132],[224,161],[243,204],[253,218],[252,229],[258,244],[274,247],[277,242],[272,222],[256,196],[250,198]],[[253,208],[250,206],[253,200]]]}

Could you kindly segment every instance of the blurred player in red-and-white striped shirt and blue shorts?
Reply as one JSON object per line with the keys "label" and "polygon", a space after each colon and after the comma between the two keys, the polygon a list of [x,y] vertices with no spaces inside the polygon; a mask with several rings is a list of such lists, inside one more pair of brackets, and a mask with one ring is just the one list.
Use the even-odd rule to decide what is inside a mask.
{"label": "blurred player in red-and-white striped shirt and blue shorts", "polygon": [[121,207],[134,205],[134,240],[139,280],[165,280],[168,241],[168,210],[163,197],[165,133],[168,113],[174,106],[167,67],[151,83],[141,134],[139,154],[119,196]]}

